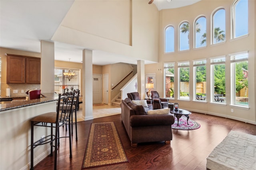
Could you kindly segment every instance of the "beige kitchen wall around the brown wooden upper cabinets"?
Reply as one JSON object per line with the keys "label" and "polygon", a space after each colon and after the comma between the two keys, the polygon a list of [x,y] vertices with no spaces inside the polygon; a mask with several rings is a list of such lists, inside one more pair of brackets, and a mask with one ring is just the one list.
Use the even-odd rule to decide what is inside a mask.
{"label": "beige kitchen wall around the brown wooden upper cabinets", "polygon": [[[30,90],[34,88],[40,88],[40,84],[6,84],[6,55],[5,54],[14,54],[14,55],[24,55],[30,57],[38,57],[41,58],[40,53],[33,53],[29,51],[21,51],[16,49],[7,49],[0,47],[0,57],[2,60],[1,65],[1,96],[6,96],[6,88],[10,88],[11,96],[26,96],[25,93],[22,93],[21,90]],[[13,90],[18,90],[18,93],[13,93]]]}

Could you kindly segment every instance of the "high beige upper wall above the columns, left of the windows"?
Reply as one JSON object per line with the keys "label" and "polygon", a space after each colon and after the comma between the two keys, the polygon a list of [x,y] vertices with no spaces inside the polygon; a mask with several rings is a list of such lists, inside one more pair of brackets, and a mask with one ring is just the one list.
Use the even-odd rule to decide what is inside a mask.
{"label": "high beige upper wall above the columns, left of the windows", "polygon": [[157,62],[158,10],[147,0],[75,1],[52,40]]}

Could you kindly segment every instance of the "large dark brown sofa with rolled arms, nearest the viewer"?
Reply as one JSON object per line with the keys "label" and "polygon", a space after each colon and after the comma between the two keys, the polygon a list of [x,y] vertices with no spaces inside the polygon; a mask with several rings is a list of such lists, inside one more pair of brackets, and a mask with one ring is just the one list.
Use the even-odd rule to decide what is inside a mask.
{"label": "large dark brown sofa with rolled arms, nearest the viewer", "polygon": [[146,115],[143,106],[126,98],[121,102],[121,118],[133,147],[138,143],[157,141],[170,144],[172,140],[174,117],[170,114]]}

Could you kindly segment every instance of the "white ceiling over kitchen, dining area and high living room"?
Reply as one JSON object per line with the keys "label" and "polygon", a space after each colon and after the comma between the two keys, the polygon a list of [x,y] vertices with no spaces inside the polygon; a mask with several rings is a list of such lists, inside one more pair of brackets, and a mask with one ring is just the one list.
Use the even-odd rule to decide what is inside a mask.
{"label": "white ceiling over kitchen, dining area and high living room", "polygon": [[[154,0],[158,10],[179,8],[199,0]],[[31,52],[41,52],[40,40],[51,41],[74,0],[0,0],[0,47]],[[54,42],[55,60],[82,62],[82,50],[65,43]],[[70,57],[72,56],[72,57]],[[137,64],[136,59],[93,50],[92,63]],[[145,64],[152,62],[145,61]]]}

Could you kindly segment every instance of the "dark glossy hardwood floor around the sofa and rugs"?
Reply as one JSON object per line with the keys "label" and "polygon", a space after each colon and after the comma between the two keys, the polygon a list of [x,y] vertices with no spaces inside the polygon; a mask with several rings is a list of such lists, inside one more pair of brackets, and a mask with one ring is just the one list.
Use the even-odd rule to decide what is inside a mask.
{"label": "dark glossy hardwood floor around the sofa and rugs", "polygon": [[[94,122],[114,121],[130,161],[92,168],[102,170],[206,170],[206,158],[231,130],[256,135],[256,125],[249,123],[194,112],[190,119],[200,123],[201,127],[190,131],[172,129],[171,145],[166,145],[164,142],[140,143],[138,147],[130,145],[121,115],[78,122],[78,141],[75,140],[75,135],[72,139],[73,157],[69,158],[69,145],[68,141],[65,141],[67,139],[62,139],[58,149],[58,169],[81,169],[90,124]],[[60,131],[66,132],[62,128]],[[35,170],[53,169],[53,167],[54,156],[48,156],[36,165]]]}

